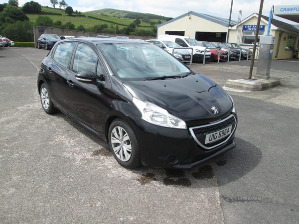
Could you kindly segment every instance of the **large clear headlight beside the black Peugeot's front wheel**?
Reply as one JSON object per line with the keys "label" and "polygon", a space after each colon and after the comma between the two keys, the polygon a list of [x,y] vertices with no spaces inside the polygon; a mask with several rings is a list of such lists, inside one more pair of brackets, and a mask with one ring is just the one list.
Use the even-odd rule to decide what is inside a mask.
{"label": "large clear headlight beside the black Peugeot's front wheel", "polygon": [[185,121],[169,114],[163,108],[149,102],[143,102],[135,97],[133,97],[133,103],[142,113],[142,119],[149,123],[163,127],[186,129]]}

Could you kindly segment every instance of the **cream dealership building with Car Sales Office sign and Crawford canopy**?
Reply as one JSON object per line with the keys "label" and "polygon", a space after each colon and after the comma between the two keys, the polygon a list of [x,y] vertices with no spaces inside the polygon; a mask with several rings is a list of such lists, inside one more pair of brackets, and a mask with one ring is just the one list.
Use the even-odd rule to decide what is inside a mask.
{"label": "cream dealership building with Car Sales Office sign and Crawford canopy", "polygon": [[[274,15],[299,23],[299,5],[274,7]],[[290,21],[290,22],[291,22]],[[189,36],[201,41],[238,43],[242,48],[252,49],[257,30],[258,14],[253,13],[241,21],[189,11],[157,26],[159,35]],[[293,58],[299,48],[299,29],[287,22],[272,19],[268,30],[269,17],[262,15],[259,27],[260,36],[275,36],[273,59]],[[258,39],[258,42],[259,42]],[[259,48],[259,45],[257,46]]]}

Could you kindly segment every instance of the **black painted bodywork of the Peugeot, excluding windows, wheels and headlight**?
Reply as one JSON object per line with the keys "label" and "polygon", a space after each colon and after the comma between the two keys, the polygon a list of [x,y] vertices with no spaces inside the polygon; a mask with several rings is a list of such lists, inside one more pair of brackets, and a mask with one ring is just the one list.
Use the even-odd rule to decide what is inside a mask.
{"label": "black painted bodywork of the Peugeot, excluding windows, wheels and headlight", "polygon": [[[64,42],[84,43],[92,48],[106,71],[105,78],[92,84],[76,79],[70,70],[74,57],[64,68],[52,59],[52,52],[41,63],[37,85],[47,83],[54,106],[66,113],[89,130],[108,140],[110,123],[117,117],[124,119],[134,131],[139,144],[142,163],[150,167],[190,168],[235,147],[234,133],[230,140],[211,150],[201,148],[190,135],[189,127],[208,124],[229,114],[236,114],[229,95],[217,84],[200,74],[191,74],[184,78],[152,81],[122,81],[113,75],[109,64],[96,44],[136,43],[150,44],[138,40],[74,38]],[[73,53],[76,47],[74,47]],[[78,77],[92,78],[90,74],[80,73]],[[175,129],[153,125],[143,119],[133,103],[133,96],[142,101],[151,102],[170,114],[179,117],[187,124],[186,129]],[[216,115],[211,107],[216,106]],[[236,117],[237,119],[237,117]],[[176,154],[178,160],[166,162],[170,154]],[[192,162],[181,164],[188,158]]]}

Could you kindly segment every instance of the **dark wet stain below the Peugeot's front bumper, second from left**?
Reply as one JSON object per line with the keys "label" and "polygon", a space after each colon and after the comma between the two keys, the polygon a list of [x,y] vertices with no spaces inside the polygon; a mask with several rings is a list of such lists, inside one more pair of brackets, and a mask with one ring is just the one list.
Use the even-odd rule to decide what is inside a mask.
{"label": "dark wet stain below the Peugeot's front bumper, second from left", "polygon": [[[163,179],[163,184],[168,185],[176,185],[176,186],[184,186],[190,187],[191,181],[184,177],[185,172],[183,170],[173,170],[173,169],[166,169],[165,170],[166,177]],[[174,180],[173,178],[178,178]]]}

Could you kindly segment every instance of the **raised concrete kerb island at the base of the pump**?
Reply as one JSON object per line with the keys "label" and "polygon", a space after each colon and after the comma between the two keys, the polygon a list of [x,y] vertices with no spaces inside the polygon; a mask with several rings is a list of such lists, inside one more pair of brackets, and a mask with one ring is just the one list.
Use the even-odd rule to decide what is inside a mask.
{"label": "raised concrete kerb island at the base of the pump", "polygon": [[281,82],[279,79],[268,79],[268,80],[260,80],[260,79],[237,79],[237,80],[228,80],[225,83],[225,87],[239,89],[239,90],[247,90],[247,91],[262,91],[270,88],[274,88],[280,86]]}

